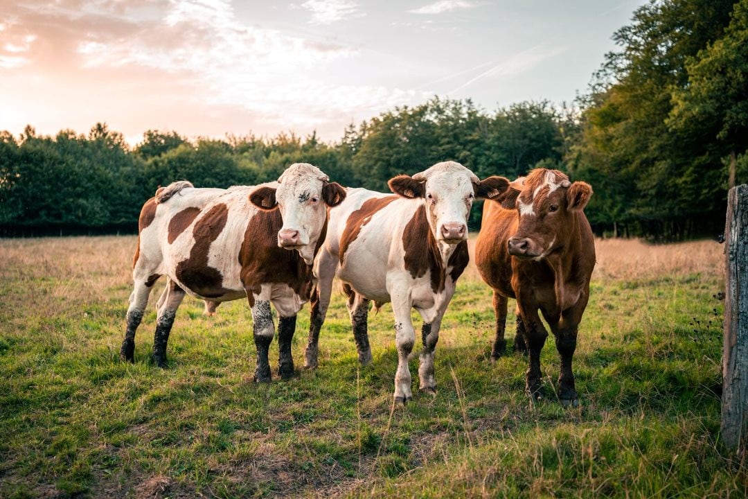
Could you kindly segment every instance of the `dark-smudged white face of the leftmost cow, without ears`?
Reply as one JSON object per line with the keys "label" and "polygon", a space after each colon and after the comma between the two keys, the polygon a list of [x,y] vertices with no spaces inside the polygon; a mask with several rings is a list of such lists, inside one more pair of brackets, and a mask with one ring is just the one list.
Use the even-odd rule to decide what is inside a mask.
{"label": "dark-smudged white face of the leftmost cow, without ears", "polygon": [[327,205],[322,200],[326,179],[318,168],[298,163],[283,172],[275,191],[283,218],[278,245],[298,251],[308,265],[314,260],[314,248],[327,219]]}

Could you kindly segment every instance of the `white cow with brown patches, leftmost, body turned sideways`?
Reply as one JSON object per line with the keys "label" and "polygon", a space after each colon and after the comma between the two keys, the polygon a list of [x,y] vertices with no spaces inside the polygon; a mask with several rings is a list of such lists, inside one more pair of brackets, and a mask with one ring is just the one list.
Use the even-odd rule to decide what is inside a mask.
{"label": "white cow with brown patches, leftmost, body turned sideways", "polygon": [[144,204],[120,357],[133,361],[135,330],[156,280],[159,299],[153,361],[166,367],[166,343],[185,294],[210,303],[246,298],[257,346],[255,380],[269,382],[268,349],[278,311],[278,372],[293,375],[291,339],[296,313],[313,288],[312,264],[328,225],[328,206],[346,198],[337,183],[308,163],[295,163],[277,183],[230,189],[194,189],[177,182]]}

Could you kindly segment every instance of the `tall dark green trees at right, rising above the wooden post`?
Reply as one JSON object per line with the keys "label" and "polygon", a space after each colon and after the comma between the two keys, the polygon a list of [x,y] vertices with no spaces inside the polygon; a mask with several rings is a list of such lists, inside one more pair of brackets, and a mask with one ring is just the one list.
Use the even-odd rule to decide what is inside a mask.
{"label": "tall dark green trees at right, rising above the wooden post", "polygon": [[745,7],[730,25],[738,3],[651,1],[613,35],[621,49],[606,56],[583,99],[583,132],[567,156],[595,188],[586,212],[598,228],[721,232],[726,156],[748,145]]}

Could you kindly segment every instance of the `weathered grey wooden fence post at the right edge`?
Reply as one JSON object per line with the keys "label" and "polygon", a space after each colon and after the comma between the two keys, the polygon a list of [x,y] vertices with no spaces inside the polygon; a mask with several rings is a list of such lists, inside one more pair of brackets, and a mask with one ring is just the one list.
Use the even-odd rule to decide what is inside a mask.
{"label": "weathered grey wooden fence post at the right edge", "polygon": [[748,444],[748,185],[727,195],[722,438],[730,450]]}

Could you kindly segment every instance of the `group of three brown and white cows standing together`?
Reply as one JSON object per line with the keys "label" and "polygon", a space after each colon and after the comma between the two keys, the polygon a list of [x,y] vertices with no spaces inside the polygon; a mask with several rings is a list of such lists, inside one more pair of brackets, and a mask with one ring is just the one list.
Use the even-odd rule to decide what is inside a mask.
{"label": "group of three brown and white cows standing together", "polygon": [[390,302],[398,366],[396,403],[411,399],[411,321],[423,319],[419,390],[436,393],[434,351],[441,320],[468,265],[468,216],[485,199],[476,241],[476,265],[494,290],[496,337],[491,358],[506,349],[507,300],[517,301],[515,349],[527,352],[527,391],[541,393],[540,351],[553,332],[561,357],[558,396],[577,405],[571,360],[589,297],[595,246],[583,208],[592,189],[556,170],[536,169],[509,182],[480,180],[457,162],[441,162],[389,181],[394,194],[343,188],[316,166],[295,163],[277,182],[230,189],[195,189],[180,181],[159,188],[138,221],[134,289],[120,357],[132,362],[135,331],[154,284],[166,276],[157,304],[153,361],[166,366],[174,316],[186,294],[205,301],[248,299],[254,322],[254,379],[271,379],[268,350],[275,336],[270,304],[278,313],[278,374],[295,372],[291,340],[296,314],[311,301],[304,365],[317,367],[319,333],[333,278],[343,284],[358,359],[369,364],[370,302]]}

